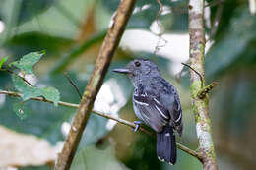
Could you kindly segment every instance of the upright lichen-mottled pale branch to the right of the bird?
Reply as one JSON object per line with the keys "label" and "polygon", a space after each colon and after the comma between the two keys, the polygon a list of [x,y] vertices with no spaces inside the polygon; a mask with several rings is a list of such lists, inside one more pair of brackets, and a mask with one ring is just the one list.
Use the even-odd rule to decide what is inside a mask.
{"label": "upright lichen-mottled pale branch to the right of the bird", "polygon": [[[204,0],[189,1],[189,36],[190,66],[200,73],[203,85],[205,85]],[[201,80],[192,70],[190,70],[190,82],[192,107],[200,153],[203,156],[203,167],[204,170],[218,170],[209,117],[209,98],[208,96],[202,99],[198,97],[197,94],[202,88]]]}

